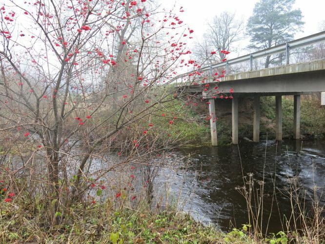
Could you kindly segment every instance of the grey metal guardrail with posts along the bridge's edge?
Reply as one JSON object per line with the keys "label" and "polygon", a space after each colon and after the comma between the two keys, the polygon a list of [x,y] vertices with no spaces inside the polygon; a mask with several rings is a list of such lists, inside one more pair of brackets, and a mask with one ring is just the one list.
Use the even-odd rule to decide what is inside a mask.
{"label": "grey metal guardrail with posts along the bridge's edge", "polygon": [[244,55],[244,56],[241,56],[241,57],[238,57],[235,59],[231,59],[231,60],[228,60],[225,62],[220,62],[220,63],[212,64],[209,66],[205,66],[198,70],[181,74],[181,75],[175,77],[173,79],[173,81],[175,81],[175,80],[177,81],[178,78],[183,78],[184,76],[189,75],[196,71],[200,71],[200,72],[211,71],[213,69],[222,68],[222,67],[225,67],[226,74],[228,74],[229,73],[229,65],[238,64],[238,63],[241,63],[244,61],[249,61],[250,62],[250,70],[253,70],[253,60],[254,59],[258,59],[258,58],[262,58],[262,57],[265,57],[268,55],[282,53],[282,52],[285,52],[286,64],[289,64],[290,63],[290,50],[299,48],[299,47],[309,46],[311,44],[316,44],[321,41],[325,41],[325,31],[319,32],[319,33],[316,33],[316,34],[313,34],[313,35],[310,35],[307,37],[303,37],[303,38],[300,38],[300,39],[297,39],[294,41],[289,41],[289,42],[286,42],[286,43],[283,43],[283,44],[280,44],[280,45],[277,45],[274,47],[270,47],[270,48],[267,48],[267,49],[264,49],[261,51],[251,53],[251,54],[247,54],[247,55]]}

